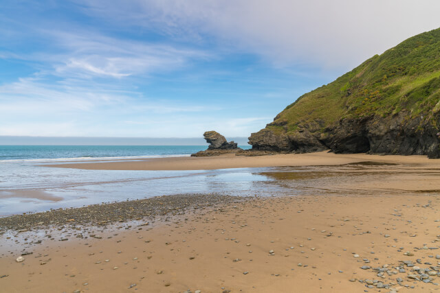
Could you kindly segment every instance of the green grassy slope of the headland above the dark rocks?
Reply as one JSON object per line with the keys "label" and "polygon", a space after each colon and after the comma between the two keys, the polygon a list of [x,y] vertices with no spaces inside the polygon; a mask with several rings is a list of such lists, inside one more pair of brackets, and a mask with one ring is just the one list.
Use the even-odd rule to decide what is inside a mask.
{"label": "green grassy slope of the headland above the dark rocks", "polygon": [[[323,132],[343,118],[423,115],[435,124],[440,111],[440,29],[408,38],[380,56],[373,56],[340,78],[299,97],[267,126],[275,133],[294,133],[318,122]],[[316,124],[316,123],[315,123]],[[421,123],[422,124],[422,123]]]}

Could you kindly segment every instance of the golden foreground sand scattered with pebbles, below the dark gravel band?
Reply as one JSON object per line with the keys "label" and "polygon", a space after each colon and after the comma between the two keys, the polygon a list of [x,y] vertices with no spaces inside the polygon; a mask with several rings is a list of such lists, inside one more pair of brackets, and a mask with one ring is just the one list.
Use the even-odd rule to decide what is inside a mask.
{"label": "golden foreground sand scattered with pebbles, below the dark gravel band", "polygon": [[[430,292],[438,285],[408,279],[414,272],[399,261],[437,267],[439,204],[426,195],[256,198],[146,226],[78,226],[67,236],[67,228],[52,228],[41,244],[23,244],[33,232],[12,233],[1,242],[0,285],[3,292],[378,292],[359,281],[370,279]],[[32,255],[17,263],[23,252]],[[391,275],[377,277],[373,268],[384,266]]]}

